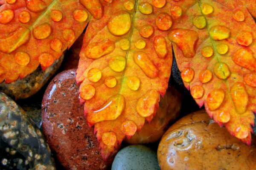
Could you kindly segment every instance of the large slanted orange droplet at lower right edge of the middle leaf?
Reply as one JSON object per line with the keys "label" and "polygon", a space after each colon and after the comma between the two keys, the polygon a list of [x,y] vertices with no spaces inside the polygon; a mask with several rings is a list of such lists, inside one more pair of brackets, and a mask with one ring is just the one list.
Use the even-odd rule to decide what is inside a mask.
{"label": "large slanted orange droplet at lower right edge of the middle leaf", "polygon": [[156,113],[156,108],[159,101],[160,94],[154,89],[149,90],[138,100],[136,111],[142,117],[149,117],[154,115],[154,113]]}

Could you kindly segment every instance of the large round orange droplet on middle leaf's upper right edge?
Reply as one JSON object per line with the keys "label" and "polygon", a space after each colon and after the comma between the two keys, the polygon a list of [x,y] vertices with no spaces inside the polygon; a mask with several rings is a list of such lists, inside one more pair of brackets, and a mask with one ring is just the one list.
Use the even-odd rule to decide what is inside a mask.
{"label": "large round orange droplet on middle leaf's upper right edge", "polygon": [[172,26],[172,17],[166,13],[160,13],[156,17],[156,26],[162,31],[167,31]]}

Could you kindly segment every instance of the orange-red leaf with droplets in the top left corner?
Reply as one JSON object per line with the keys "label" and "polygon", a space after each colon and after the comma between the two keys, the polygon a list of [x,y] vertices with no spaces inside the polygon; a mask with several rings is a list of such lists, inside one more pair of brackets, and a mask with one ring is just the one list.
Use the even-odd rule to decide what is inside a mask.
{"label": "orange-red leaf with droplets in the top left corner", "polygon": [[[80,3],[79,3],[80,2]],[[1,0],[0,3],[3,3]],[[0,6],[0,82],[45,70],[79,37],[90,19],[86,0],[4,0]]]}

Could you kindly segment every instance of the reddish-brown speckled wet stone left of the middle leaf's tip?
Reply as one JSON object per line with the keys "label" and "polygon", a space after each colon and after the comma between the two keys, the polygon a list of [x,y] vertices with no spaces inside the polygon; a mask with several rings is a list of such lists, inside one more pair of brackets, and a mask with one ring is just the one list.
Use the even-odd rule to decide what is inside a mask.
{"label": "reddish-brown speckled wet stone left of the middle leaf's tip", "polygon": [[106,169],[115,154],[106,162],[102,159],[93,128],[88,127],[79,103],[75,73],[75,69],[61,72],[48,85],[42,102],[43,132],[65,168]]}

